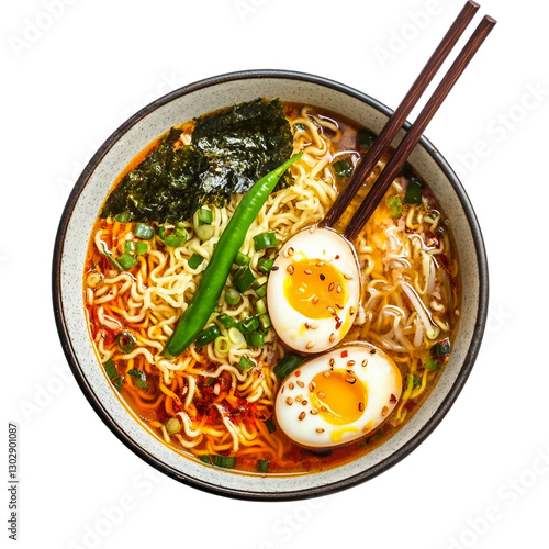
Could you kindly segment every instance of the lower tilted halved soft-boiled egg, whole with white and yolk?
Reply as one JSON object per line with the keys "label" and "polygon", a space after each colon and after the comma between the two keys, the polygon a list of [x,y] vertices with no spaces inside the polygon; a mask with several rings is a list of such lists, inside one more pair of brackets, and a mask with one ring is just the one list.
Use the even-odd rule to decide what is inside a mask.
{"label": "lower tilted halved soft-boiled egg, whole with white and yolk", "polygon": [[303,363],[281,384],[277,423],[294,442],[330,448],[379,427],[402,394],[393,360],[368,344],[340,347]]}

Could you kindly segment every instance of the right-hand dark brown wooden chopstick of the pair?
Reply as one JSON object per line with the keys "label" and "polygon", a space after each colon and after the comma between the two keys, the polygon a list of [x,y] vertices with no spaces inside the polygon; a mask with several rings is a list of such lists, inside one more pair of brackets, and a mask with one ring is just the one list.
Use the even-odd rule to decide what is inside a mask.
{"label": "right-hand dark brown wooden chopstick of the pair", "polygon": [[363,224],[368,221],[380,201],[383,199],[385,192],[391,187],[401,168],[404,166],[404,163],[412,153],[413,148],[417,145],[417,142],[422,137],[423,132],[427,127],[428,123],[433,120],[433,116],[438,111],[438,108],[442,104],[442,101],[453,88],[453,85],[457,82],[458,78],[469,65],[469,61],[478,52],[495,24],[495,19],[491,18],[490,15],[485,15],[479,23],[479,26],[475,29],[467,44],[463,46],[463,49],[461,49],[456,60],[448,69],[448,72],[442,78],[437,89],[434,91],[433,96],[423,108],[422,112],[417,116],[417,120],[408,130],[405,137],[402,139],[393,156],[384,167],[383,171],[373,183],[365,201],[355,212],[355,215],[345,229],[345,236],[349,240],[358,235]]}

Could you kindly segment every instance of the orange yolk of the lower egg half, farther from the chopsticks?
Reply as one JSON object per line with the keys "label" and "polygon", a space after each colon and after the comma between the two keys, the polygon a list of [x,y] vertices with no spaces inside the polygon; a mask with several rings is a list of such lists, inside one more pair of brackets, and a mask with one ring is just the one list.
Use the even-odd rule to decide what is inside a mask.
{"label": "orange yolk of the lower egg half, farther from the chopsticks", "polygon": [[313,378],[311,404],[332,425],[348,425],[363,413],[368,394],[363,383],[347,370],[317,373]]}

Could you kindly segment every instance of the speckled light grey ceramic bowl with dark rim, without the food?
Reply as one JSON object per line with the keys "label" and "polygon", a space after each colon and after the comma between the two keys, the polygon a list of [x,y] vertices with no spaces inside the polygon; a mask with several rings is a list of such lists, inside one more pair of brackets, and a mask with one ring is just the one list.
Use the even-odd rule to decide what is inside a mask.
{"label": "speckled light grey ceramic bowl with dark rim, without the food", "polygon": [[82,299],[86,249],[108,191],[137,153],[175,124],[258,97],[317,105],[374,132],[381,130],[391,114],[379,101],[341,83],[278,70],[209,78],[150,103],[105,141],[68,199],[55,246],[54,309],[64,351],[86,397],[105,425],[143,460],[180,482],[216,494],[247,500],[293,500],[324,495],[376,477],[406,457],[440,423],[460,393],[479,351],[486,320],[488,268],[481,231],[463,187],[437,148],[423,138],[411,163],[451,219],[463,280],[455,351],[425,404],[381,447],[352,462],[317,473],[262,478],[209,467],[170,450],[137,423],[99,368]]}

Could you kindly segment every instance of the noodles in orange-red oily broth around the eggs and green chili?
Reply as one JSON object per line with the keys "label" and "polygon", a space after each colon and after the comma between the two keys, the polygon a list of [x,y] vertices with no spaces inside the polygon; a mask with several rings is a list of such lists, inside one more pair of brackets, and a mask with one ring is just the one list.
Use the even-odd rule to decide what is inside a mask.
{"label": "noodles in orange-red oily broth around the eggs and green chili", "polygon": [[[253,236],[274,231],[282,244],[302,228],[320,223],[346,183],[336,176],[333,164],[347,158],[355,166],[360,158],[357,126],[351,121],[296,103],[285,103],[284,110],[294,135],[294,153],[303,150],[304,156],[292,167],[294,184],[272,193],[248,231],[242,251],[251,258],[256,277],[261,276],[256,269],[264,250],[255,250]],[[192,127],[192,122],[181,125],[181,144],[191,142]],[[137,155],[114,186],[157,145],[158,141]],[[346,225],[385,163],[386,158],[380,160],[335,228]],[[408,167],[385,199],[403,198],[413,175]],[[135,239],[135,224],[98,219],[88,249],[83,292],[98,360],[102,365],[111,360],[115,368],[116,377],[109,368],[105,373],[113,390],[141,423],[175,451],[194,459],[235,456],[240,471],[257,472],[258,460],[268,460],[267,474],[314,472],[371,451],[428,396],[449,359],[449,355],[434,359],[430,349],[441,339],[453,341],[458,325],[456,247],[436,198],[425,184],[423,194],[422,205],[402,205],[399,217],[393,217],[386,200],[382,201],[355,243],[362,307],[343,344],[363,340],[380,347],[395,361],[404,380],[397,406],[366,438],[313,452],[292,444],[280,429],[270,433],[280,384],[273,367],[285,352],[274,333],[257,348],[233,345],[222,354],[214,343],[200,349],[191,344],[173,360],[161,357],[208,262],[191,269],[187,261],[193,254],[211,257],[240,197],[233,197],[224,208],[212,208],[210,239],[201,240],[192,223],[186,222],[190,238],[181,247],[170,248],[156,232],[152,240],[145,240],[147,251],[138,256],[137,265],[122,272],[111,266],[104,250],[123,254],[125,243]],[[222,293],[219,310],[206,326],[215,323],[226,336],[216,316],[222,312],[235,320],[253,316],[256,301],[254,289],[246,290],[235,306],[227,305]],[[125,333],[135,341],[132,350],[124,351],[116,341],[116,336]],[[243,372],[237,366],[243,356],[257,367]],[[166,423],[173,417],[181,427],[169,434]]]}

